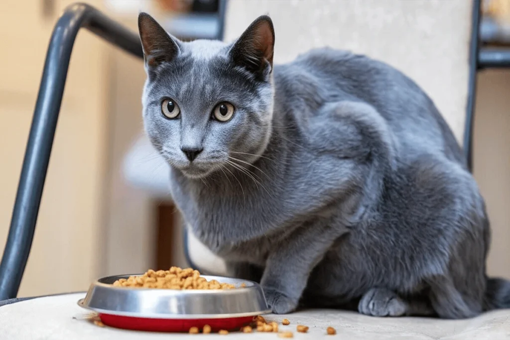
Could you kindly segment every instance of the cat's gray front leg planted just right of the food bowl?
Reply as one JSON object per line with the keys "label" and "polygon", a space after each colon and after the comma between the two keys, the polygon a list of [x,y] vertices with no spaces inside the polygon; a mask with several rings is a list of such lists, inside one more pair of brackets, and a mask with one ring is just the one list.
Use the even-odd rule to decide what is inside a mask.
{"label": "cat's gray front leg planted just right of the food bowl", "polygon": [[273,313],[296,309],[312,269],[345,232],[344,227],[310,223],[296,228],[289,237],[275,244],[261,281]]}

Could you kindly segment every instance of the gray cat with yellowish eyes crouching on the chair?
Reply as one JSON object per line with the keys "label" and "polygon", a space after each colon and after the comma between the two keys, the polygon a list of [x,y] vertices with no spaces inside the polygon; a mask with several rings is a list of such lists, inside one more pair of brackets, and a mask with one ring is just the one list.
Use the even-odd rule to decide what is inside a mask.
{"label": "gray cat with yellowish eyes crouching on the chair", "polygon": [[139,31],[145,129],[195,236],[275,313],[467,318],[510,307],[460,147],[408,77],[315,49],[273,66],[271,19],[234,43]]}

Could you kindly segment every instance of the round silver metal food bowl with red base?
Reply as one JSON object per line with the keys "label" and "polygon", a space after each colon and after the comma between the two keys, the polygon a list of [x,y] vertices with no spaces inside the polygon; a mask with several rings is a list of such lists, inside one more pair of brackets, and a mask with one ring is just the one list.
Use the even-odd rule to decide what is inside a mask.
{"label": "round silver metal food bowl with red base", "polygon": [[[261,286],[252,281],[220,276],[202,276],[208,281],[232,283],[234,289],[171,290],[113,286],[117,275],[90,285],[78,305],[99,314],[105,325],[133,330],[187,332],[191,327],[212,331],[239,330],[254,316],[270,312]],[[242,287],[242,284],[245,284]]]}

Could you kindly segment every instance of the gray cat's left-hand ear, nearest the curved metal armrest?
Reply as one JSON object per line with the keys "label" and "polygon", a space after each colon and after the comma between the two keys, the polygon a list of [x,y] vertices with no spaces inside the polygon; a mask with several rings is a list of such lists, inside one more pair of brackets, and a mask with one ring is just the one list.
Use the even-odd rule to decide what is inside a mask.
{"label": "gray cat's left-hand ear, nearest the curved metal armrest", "polygon": [[162,62],[170,62],[179,53],[179,41],[166,33],[161,25],[147,13],[138,15],[138,31],[147,67],[156,67]]}

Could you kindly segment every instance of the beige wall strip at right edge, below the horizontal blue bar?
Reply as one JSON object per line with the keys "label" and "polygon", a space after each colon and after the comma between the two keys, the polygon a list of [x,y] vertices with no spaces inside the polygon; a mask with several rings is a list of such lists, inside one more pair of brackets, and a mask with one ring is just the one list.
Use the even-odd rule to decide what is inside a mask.
{"label": "beige wall strip at right edge, below the horizontal blue bar", "polygon": [[510,70],[478,73],[473,143],[492,225],[488,271],[510,278]]}

